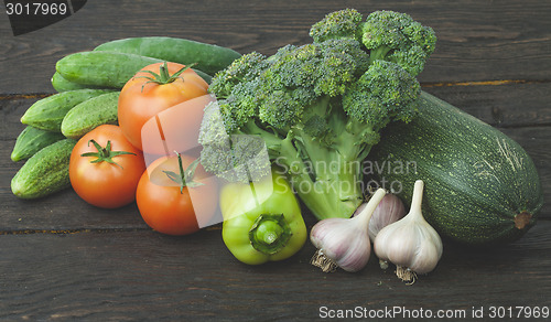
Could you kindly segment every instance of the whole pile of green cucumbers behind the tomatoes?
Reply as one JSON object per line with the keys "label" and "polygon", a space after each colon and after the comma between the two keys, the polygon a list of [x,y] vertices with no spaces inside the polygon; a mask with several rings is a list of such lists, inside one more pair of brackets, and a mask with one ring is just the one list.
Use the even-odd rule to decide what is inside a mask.
{"label": "whole pile of green cucumbers behind the tomatoes", "polygon": [[120,90],[141,68],[159,62],[195,64],[193,69],[210,83],[216,72],[240,56],[213,44],[150,36],[116,40],[63,57],[52,77],[57,93],[34,103],[21,118],[26,127],[11,159],[24,164],[11,181],[13,194],[37,198],[71,186],[73,147],[94,128],[118,124]]}

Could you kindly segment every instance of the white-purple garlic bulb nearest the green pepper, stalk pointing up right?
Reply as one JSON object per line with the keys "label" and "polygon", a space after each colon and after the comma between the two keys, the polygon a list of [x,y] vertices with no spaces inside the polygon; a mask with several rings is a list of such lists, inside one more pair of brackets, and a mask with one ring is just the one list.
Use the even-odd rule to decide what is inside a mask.
{"label": "white-purple garlic bulb nearest the green pepper, stalk pointing up right", "polygon": [[310,240],[317,248],[311,264],[325,272],[342,269],[355,272],[363,269],[371,255],[368,225],[371,215],[385,196],[379,189],[364,210],[352,218],[320,221],[310,232]]}

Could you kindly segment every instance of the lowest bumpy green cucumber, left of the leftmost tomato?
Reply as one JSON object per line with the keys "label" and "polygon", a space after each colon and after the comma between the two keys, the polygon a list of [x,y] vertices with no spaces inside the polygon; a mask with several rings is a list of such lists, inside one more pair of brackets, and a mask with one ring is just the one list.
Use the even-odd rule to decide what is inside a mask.
{"label": "lowest bumpy green cucumber, left of the leftmost tomato", "polygon": [[63,139],[31,157],[11,180],[20,198],[39,198],[71,186],[68,165],[76,140]]}

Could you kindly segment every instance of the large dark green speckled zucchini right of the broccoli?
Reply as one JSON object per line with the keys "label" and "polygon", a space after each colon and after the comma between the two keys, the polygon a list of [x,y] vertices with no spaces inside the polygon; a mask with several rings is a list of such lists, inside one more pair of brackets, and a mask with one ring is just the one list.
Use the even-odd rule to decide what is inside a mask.
{"label": "large dark green speckled zucchini right of the broccoli", "polygon": [[468,245],[516,240],[536,224],[543,194],[527,152],[496,128],[430,95],[409,124],[393,122],[369,153],[379,184],[408,204],[425,182],[423,215],[443,236]]}

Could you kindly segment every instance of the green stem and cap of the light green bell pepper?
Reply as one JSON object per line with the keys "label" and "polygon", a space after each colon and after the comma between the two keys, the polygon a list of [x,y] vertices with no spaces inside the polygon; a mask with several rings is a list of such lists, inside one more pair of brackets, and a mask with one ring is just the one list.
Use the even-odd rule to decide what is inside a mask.
{"label": "green stem and cap of the light green bell pepper", "polygon": [[285,247],[291,236],[291,227],[289,227],[283,214],[260,215],[249,230],[251,246],[266,255],[280,251]]}

